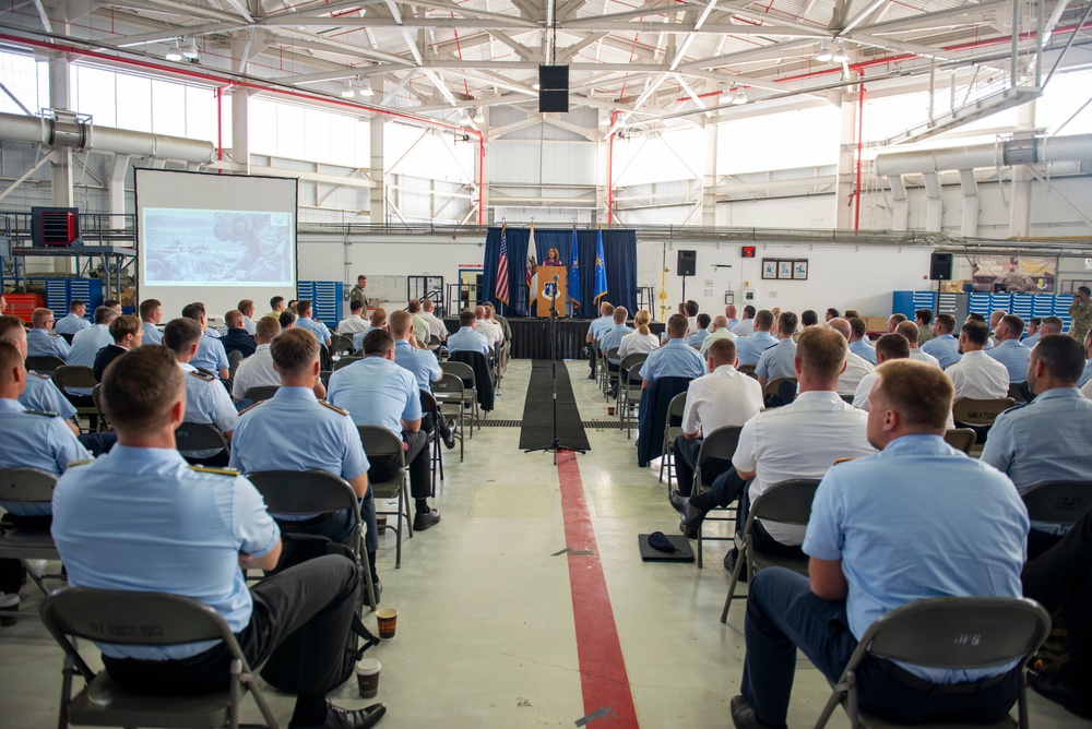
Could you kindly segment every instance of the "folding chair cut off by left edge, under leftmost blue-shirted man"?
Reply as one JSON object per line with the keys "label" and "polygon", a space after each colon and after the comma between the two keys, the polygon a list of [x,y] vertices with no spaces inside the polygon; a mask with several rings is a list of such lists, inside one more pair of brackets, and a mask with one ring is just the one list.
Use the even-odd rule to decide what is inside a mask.
{"label": "folding chair cut off by left edge, under leftmost blue-shirted man", "polygon": [[[57,476],[40,468],[0,469],[0,501],[12,503],[49,503],[54,498]],[[43,582],[63,579],[61,574],[39,574],[27,560],[60,561],[49,529],[21,529],[10,522],[0,522],[0,559],[19,560],[43,595],[49,595]]]}

